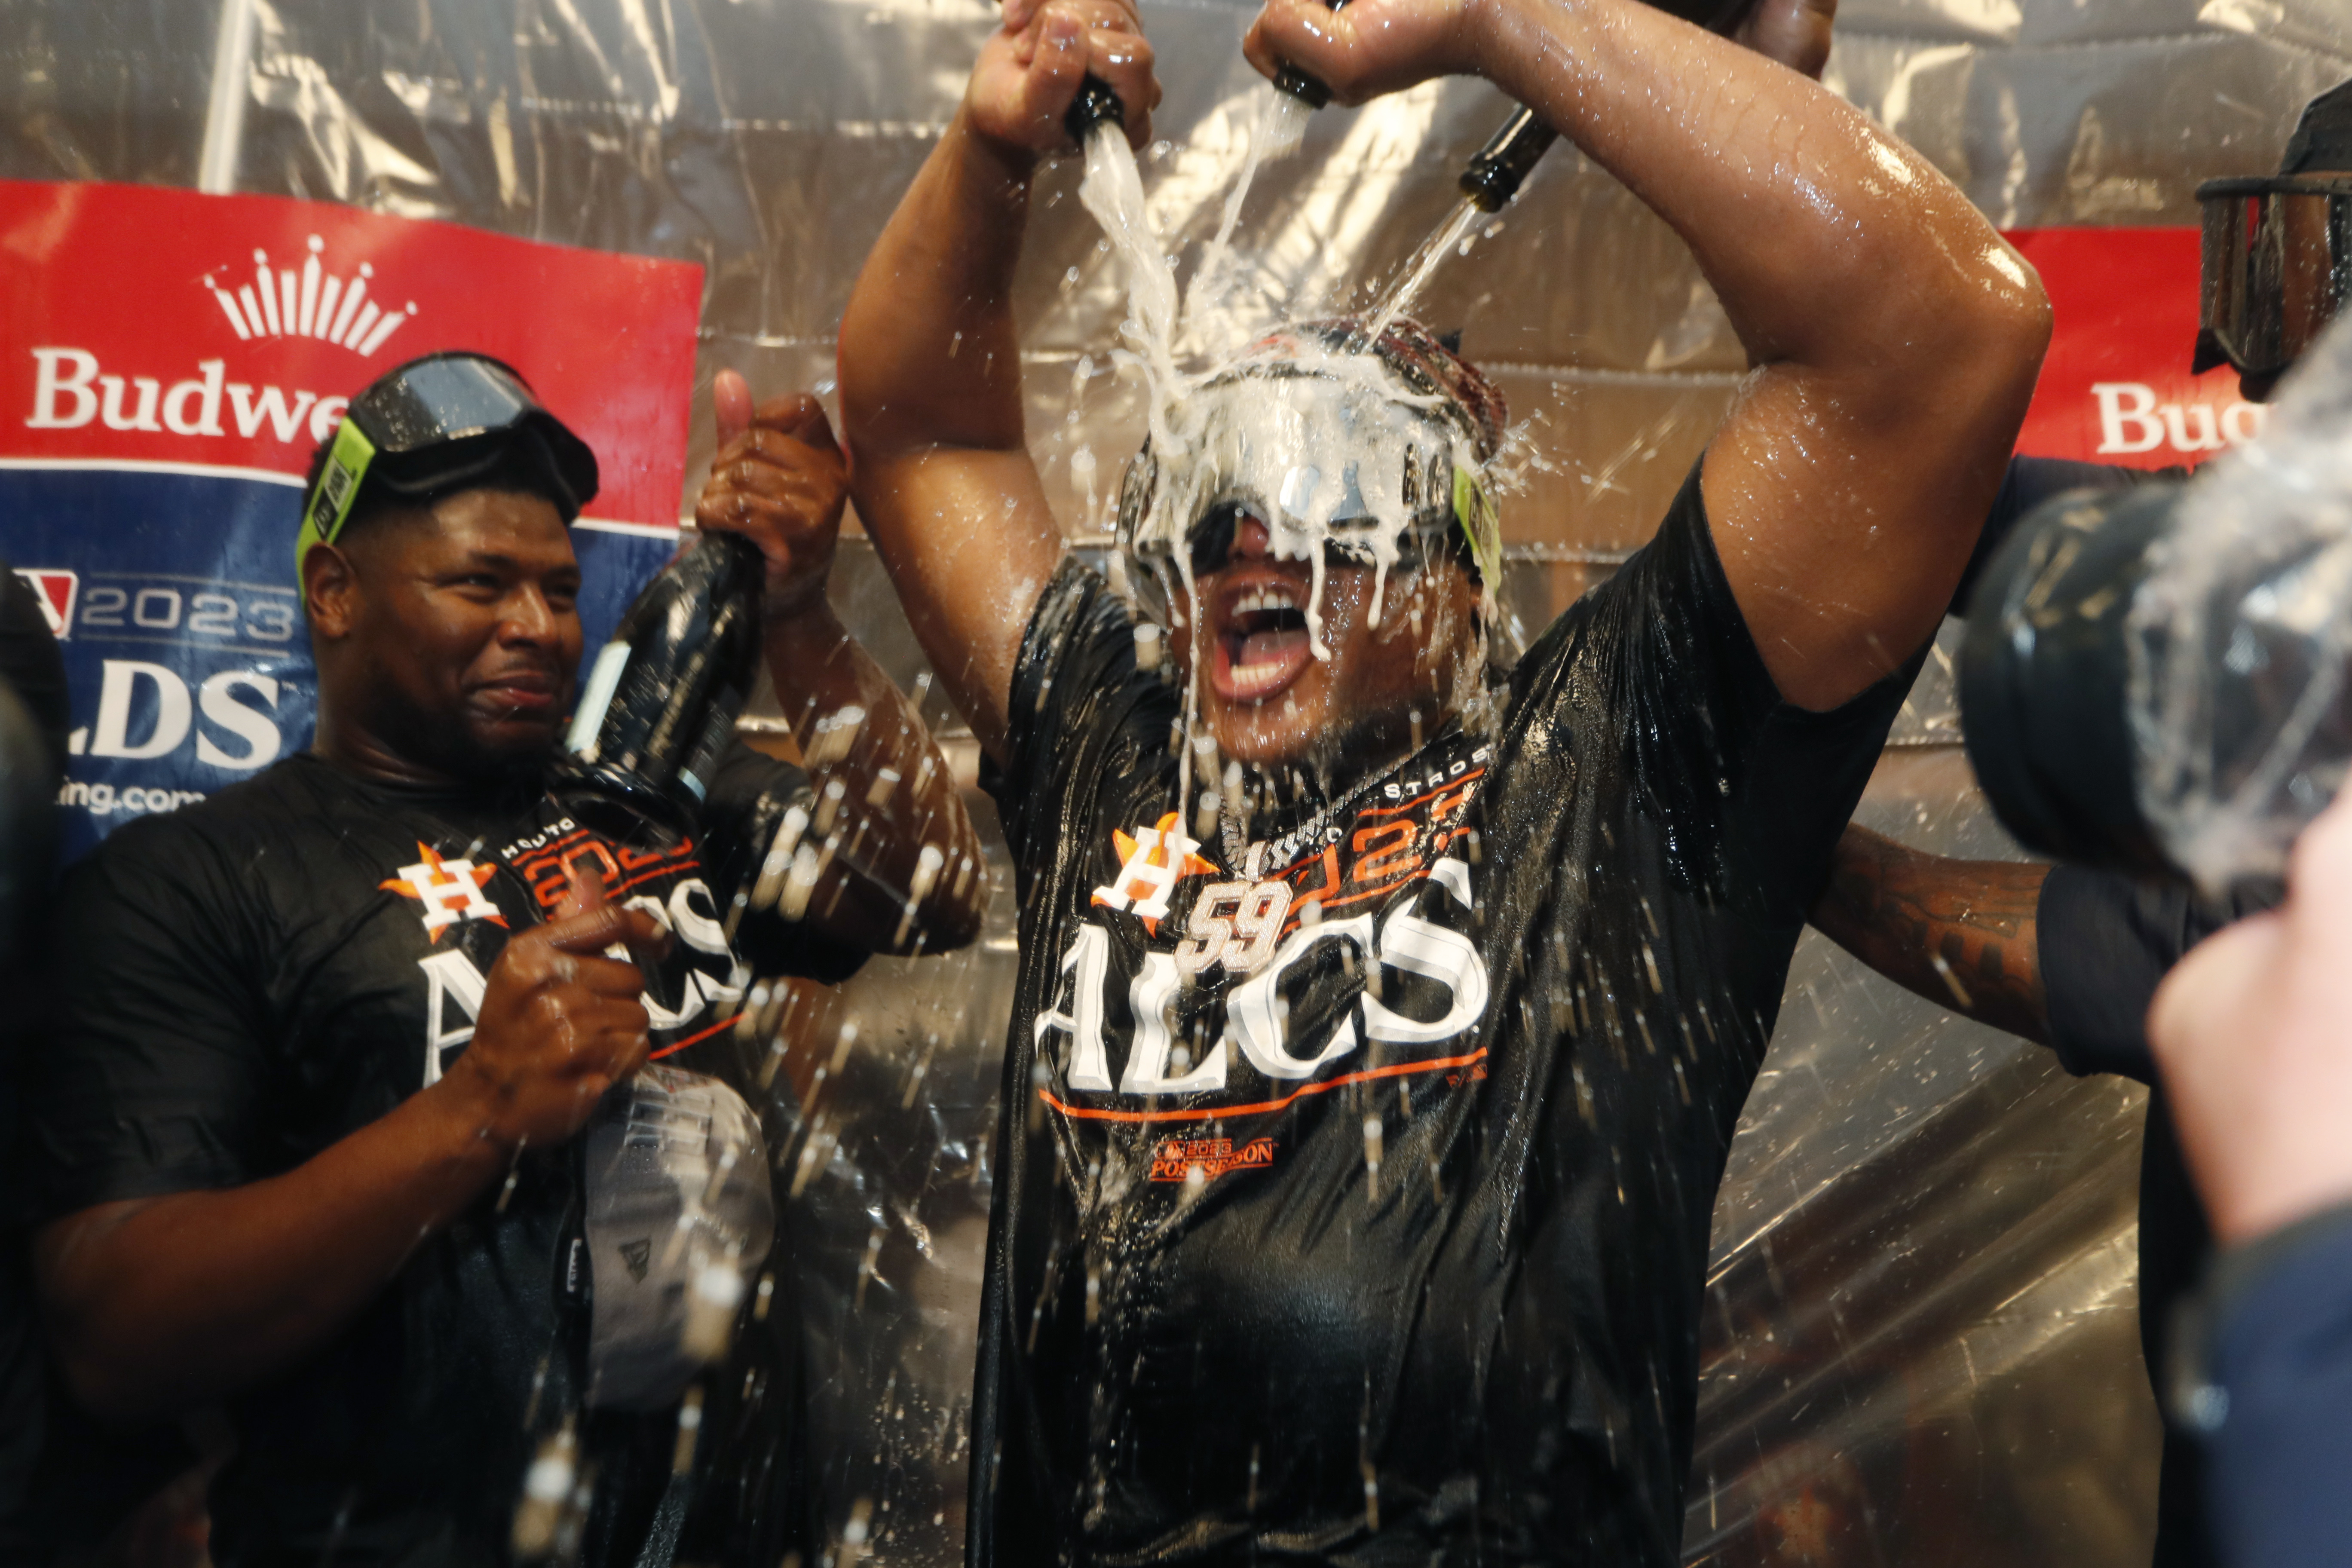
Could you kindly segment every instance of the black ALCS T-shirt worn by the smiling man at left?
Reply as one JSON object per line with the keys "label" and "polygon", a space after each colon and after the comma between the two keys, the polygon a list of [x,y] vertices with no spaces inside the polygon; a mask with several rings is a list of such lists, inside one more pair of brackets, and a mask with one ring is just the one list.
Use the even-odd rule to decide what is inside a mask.
{"label": "black ALCS T-shirt worn by the smiling man at left", "polygon": [[[797,769],[739,750],[703,820],[713,856],[630,849],[553,792],[407,792],[299,755],[118,830],[59,900],[26,1086],[33,1218],[254,1182],[381,1119],[466,1051],[492,964],[553,914],[567,863],[675,936],[647,985],[654,1056],[757,1103],[724,1027],[750,969],[840,978],[854,954],[753,924],[731,950],[713,889],[746,853],[729,827],[804,795]],[[214,1561],[503,1563],[524,1467],[588,1394],[595,1279],[626,1265],[581,1234],[574,1147],[529,1150],[503,1206],[487,1192],[348,1331],[238,1399]],[[731,1493],[795,1465],[786,1316],[710,1378],[689,1559],[774,1563],[793,1544],[729,1535],[783,1530],[783,1505],[727,1523]],[[581,1420],[600,1476],[583,1561],[635,1561],[675,1413]]]}

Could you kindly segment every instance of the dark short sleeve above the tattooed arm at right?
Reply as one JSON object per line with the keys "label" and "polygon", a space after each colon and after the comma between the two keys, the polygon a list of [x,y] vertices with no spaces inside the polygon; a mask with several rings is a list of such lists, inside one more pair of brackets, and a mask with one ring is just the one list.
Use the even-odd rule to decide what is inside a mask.
{"label": "dark short sleeve above the tattooed arm at right", "polygon": [[2034,907],[2034,943],[2060,1065],[2154,1084],[2145,1023],[2157,985],[2190,947],[2270,903],[2260,893],[2206,900],[2176,884],[2051,867]]}

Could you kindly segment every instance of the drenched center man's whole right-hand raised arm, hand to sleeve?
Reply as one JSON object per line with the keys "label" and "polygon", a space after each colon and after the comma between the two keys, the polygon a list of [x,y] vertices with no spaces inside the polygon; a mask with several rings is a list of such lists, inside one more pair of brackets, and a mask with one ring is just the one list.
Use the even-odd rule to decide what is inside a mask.
{"label": "drenched center man's whole right-hand raised arm, hand to sleeve", "polygon": [[1491,78],[1698,256],[1757,367],[1715,545],[1780,693],[1835,708],[1936,630],[2049,339],[2032,270],[1910,148],[1637,0],[1268,0],[1247,49],[1343,99]]}

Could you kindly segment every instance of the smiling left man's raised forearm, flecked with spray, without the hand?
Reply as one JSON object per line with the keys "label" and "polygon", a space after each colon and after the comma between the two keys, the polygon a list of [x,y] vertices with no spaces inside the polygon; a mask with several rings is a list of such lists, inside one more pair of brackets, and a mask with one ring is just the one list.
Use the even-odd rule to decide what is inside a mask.
{"label": "smiling left man's raised forearm, flecked with spray, without the hand", "polygon": [[875,952],[969,943],[985,860],[922,715],[821,599],[769,621],[767,663],[816,788],[807,917]]}

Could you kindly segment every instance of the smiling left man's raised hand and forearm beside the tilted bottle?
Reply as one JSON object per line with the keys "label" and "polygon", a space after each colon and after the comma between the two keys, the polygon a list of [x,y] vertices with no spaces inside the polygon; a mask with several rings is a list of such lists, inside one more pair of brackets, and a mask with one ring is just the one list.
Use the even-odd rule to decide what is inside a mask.
{"label": "smiling left man's raised hand and forearm beside the tilted bottle", "polygon": [[826,602],[849,473],[807,393],[757,409],[736,371],[713,386],[720,449],[694,510],[767,555],[762,635],[809,783],[816,882],[797,898],[868,952],[946,952],[981,929],[981,839],[922,715]]}

